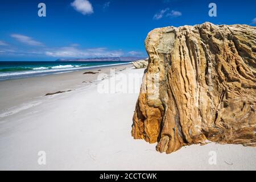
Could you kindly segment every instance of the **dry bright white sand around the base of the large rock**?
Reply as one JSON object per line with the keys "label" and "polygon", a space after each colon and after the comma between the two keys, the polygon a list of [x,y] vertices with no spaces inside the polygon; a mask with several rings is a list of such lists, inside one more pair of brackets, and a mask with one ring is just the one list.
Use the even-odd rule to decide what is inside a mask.
{"label": "dry bright white sand around the base of the large rock", "polygon": [[[140,73],[128,68],[123,73]],[[256,169],[256,148],[207,144],[166,155],[131,137],[138,93],[99,94],[97,85],[43,97],[0,118],[0,169]],[[25,105],[26,106],[26,105]],[[38,152],[46,152],[46,165]],[[210,165],[209,152],[217,154]]]}

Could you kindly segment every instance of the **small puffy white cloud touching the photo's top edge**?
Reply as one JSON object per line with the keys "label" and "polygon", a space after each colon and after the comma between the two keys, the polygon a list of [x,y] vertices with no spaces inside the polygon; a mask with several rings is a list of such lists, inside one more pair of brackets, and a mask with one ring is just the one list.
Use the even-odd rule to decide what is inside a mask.
{"label": "small puffy white cloud touching the photo's top edge", "polygon": [[83,15],[93,13],[92,4],[88,0],[75,0],[71,3],[71,6]]}

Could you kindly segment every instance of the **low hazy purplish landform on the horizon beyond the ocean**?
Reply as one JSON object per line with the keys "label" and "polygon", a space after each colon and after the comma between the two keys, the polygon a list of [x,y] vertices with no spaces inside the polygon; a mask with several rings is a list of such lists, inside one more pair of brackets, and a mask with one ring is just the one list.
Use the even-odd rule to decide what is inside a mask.
{"label": "low hazy purplish landform on the horizon beyond the ocean", "polygon": [[56,61],[137,61],[146,57],[90,57],[79,59],[57,59]]}

